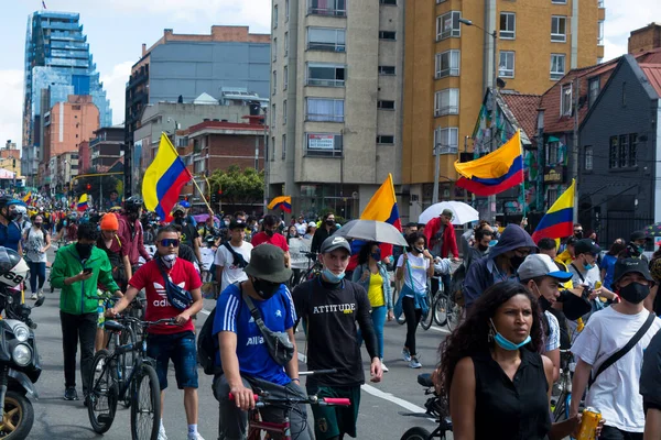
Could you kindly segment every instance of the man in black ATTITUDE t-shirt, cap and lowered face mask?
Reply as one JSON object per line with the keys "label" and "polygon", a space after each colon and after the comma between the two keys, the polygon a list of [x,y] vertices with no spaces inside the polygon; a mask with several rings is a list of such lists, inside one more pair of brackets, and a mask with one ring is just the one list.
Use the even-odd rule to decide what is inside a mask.
{"label": "man in black ATTITUDE t-shirt, cap and lowered face mask", "polygon": [[358,328],[370,358],[371,382],[382,378],[381,360],[377,355],[367,293],[360,285],[344,279],[351,252],[349,242],[344,237],[328,237],[319,251],[322,274],[296,286],[293,299],[307,334],[307,367],[336,373],[308,376],[305,387],[307,395],[351,402],[348,407],[312,406],[315,439],[342,439],[345,435],[355,438],[360,386],[365,383]]}

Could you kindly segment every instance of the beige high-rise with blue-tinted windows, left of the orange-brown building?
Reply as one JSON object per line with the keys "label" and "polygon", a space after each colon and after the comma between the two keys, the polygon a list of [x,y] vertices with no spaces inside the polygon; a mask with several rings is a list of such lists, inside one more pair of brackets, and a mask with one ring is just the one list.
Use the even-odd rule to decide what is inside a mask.
{"label": "beige high-rise with blue-tinted windows, left of the orange-brown building", "polygon": [[388,173],[400,179],[403,2],[272,8],[267,197],[357,217]]}

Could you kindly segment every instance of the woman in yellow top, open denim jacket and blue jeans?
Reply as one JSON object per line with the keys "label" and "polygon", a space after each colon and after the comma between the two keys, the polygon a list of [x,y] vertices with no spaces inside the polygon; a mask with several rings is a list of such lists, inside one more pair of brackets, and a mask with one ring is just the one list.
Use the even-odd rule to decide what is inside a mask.
{"label": "woman in yellow top, open denim jacket and blue jeans", "polygon": [[[377,355],[381,360],[381,370],[388,371],[383,363],[383,327],[386,319],[392,321],[392,292],[388,268],[381,262],[381,249],[375,241],[367,242],[358,253],[358,267],[354,271],[354,283],[358,283],[367,292],[371,306],[371,319],[377,333]],[[362,340],[360,340],[362,344]]]}

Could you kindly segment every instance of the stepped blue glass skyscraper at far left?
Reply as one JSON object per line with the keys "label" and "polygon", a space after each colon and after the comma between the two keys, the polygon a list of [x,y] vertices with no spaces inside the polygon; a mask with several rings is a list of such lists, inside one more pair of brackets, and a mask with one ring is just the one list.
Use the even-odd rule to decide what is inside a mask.
{"label": "stepped blue glass skyscraper at far left", "polygon": [[[37,11],[28,19],[25,37],[25,85],[23,98],[23,173],[34,176],[43,155],[46,113],[69,95],[89,95],[100,122],[112,123],[110,102],[91,59],[79,14]],[[31,180],[29,179],[29,183]]]}

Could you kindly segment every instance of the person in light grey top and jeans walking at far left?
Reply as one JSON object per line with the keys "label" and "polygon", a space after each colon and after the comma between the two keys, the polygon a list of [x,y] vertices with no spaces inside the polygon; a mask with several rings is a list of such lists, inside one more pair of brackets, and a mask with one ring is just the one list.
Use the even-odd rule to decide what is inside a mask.
{"label": "person in light grey top and jeans walking at far left", "polygon": [[[25,242],[25,260],[30,266],[30,299],[36,299],[44,294],[46,280],[46,251],[51,248],[51,235],[43,227],[44,218],[41,215],[32,217],[32,226],[23,234]],[[39,282],[39,284],[37,284]]]}

